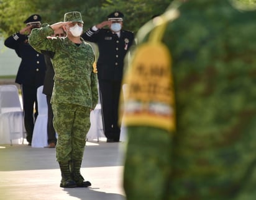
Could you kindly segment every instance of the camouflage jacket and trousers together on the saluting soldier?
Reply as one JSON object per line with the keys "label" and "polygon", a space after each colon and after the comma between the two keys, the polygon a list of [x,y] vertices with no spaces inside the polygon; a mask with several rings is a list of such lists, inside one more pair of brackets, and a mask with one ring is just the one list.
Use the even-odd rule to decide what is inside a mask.
{"label": "camouflage jacket and trousers together on the saluting soldier", "polygon": [[52,51],[55,71],[52,93],[53,126],[58,133],[58,162],[83,159],[89,111],[98,102],[98,80],[93,72],[94,52],[83,41],[79,46],[66,38],[48,39],[53,29],[44,24],[30,33],[30,45],[37,51]]}

